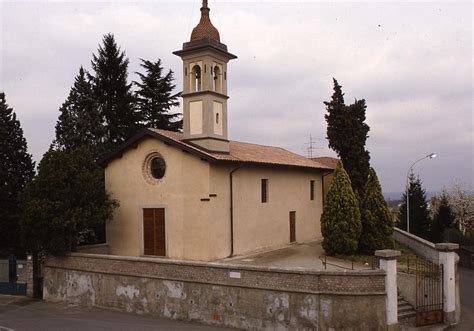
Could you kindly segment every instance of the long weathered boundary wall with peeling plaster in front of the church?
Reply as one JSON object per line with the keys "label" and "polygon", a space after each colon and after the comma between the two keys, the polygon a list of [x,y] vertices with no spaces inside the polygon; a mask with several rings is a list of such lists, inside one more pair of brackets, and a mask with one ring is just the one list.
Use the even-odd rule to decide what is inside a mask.
{"label": "long weathered boundary wall with peeling plaster in front of the church", "polygon": [[326,272],[72,253],[44,299],[243,329],[386,328],[385,272]]}

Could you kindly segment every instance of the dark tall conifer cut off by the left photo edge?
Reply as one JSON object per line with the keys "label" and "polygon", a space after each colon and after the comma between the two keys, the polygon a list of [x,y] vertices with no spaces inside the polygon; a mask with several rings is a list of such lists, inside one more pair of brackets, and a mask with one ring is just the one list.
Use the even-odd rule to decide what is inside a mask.
{"label": "dark tall conifer cut off by the left photo edge", "polygon": [[20,121],[0,92],[0,255],[21,254],[19,194],[34,176]]}

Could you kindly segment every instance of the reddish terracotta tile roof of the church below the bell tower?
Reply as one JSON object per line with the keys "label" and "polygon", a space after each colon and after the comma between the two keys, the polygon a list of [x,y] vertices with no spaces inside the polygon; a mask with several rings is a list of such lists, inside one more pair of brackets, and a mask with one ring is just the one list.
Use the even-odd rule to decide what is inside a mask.
{"label": "reddish terracotta tile roof of the church below the bell tower", "polygon": [[229,154],[212,153],[203,151],[191,144],[183,142],[183,134],[180,132],[159,129],[148,129],[148,131],[171,139],[182,147],[186,147],[186,149],[190,149],[190,151],[195,151],[201,155],[208,156],[211,160],[215,161],[267,164],[314,169],[333,169],[326,164],[289,152],[281,147],[250,144],[240,141],[230,141]]}

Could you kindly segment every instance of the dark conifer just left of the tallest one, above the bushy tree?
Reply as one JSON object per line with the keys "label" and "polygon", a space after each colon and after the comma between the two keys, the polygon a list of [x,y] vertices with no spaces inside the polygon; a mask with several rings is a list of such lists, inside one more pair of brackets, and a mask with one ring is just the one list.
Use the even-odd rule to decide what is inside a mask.
{"label": "dark conifer just left of the tallest one, above the bushy tree", "polygon": [[81,67],[69,96],[59,109],[54,144],[60,149],[88,146],[98,152],[101,148],[105,127],[88,76]]}

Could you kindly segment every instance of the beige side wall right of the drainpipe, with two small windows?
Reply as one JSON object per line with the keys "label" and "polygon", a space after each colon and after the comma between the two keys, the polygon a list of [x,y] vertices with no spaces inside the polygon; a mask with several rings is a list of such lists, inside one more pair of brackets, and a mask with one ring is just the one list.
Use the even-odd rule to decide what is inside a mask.
{"label": "beige side wall right of the drainpipe, with two small windows", "polygon": [[[268,179],[268,202],[261,202]],[[315,198],[310,200],[310,181]],[[234,254],[290,243],[289,213],[296,212],[296,241],[321,239],[321,173],[318,170],[242,168],[234,174]]]}

